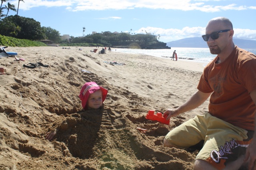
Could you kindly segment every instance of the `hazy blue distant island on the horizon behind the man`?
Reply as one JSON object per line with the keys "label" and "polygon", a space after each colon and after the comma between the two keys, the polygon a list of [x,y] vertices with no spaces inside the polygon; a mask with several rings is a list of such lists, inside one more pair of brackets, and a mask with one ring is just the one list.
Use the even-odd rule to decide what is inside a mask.
{"label": "hazy blue distant island on the horizon behind the man", "polygon": [[[243,49],[256,49],[256,41],[247,39],[233,39],[235,45]],[[208,48],[207,43],[202,37],[184,38],[177,41],[166,43],[168,47],[186,47],[186,48]]]}

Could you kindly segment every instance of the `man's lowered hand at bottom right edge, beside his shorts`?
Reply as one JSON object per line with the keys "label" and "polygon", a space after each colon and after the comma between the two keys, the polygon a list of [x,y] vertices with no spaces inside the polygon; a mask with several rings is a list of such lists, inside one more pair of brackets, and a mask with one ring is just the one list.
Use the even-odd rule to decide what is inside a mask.
{"label": "man's lowered hand at bottom right edge, beside his shorts", "polygon": [[246,149],[246,154],[244,161],[248,161],[248,170],[256,170],[256,140],[254,139],[252,143]]}

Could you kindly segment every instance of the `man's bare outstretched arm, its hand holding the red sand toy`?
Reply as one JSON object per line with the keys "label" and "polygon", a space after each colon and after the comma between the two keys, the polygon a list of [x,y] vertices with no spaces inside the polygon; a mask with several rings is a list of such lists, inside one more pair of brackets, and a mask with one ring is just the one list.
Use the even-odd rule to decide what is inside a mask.
{"label": "man's bare outstretched arm, its hand holding the red sand toy", "polygon": [[203,93],[200,90],[198,90],[195,94],[193,94],[182,106],[179,106],[176,109],[168,109],[164,112],[164,115],[168,115],[166,119],[170,119],[171,117],[177,116],[180,113],[184,113],[186,111],[195,109],[196,107],[200,106],[202,103],[208,99],[208,97],[212,93]]}

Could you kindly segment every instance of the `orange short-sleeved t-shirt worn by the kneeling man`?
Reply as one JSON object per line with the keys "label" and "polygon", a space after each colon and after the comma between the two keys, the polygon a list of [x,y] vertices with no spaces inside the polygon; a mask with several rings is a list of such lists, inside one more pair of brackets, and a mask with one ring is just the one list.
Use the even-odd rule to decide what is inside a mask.
{"label": "orange short-sleeved t-shirt worn by the kneeling man", "polygon": [[222,63],[215,57],[205,68],[198,90],[213,92],[209,113],[237,127],[254,130],[256,106],[250,92],[256,90],[256,55],[235,47]]}

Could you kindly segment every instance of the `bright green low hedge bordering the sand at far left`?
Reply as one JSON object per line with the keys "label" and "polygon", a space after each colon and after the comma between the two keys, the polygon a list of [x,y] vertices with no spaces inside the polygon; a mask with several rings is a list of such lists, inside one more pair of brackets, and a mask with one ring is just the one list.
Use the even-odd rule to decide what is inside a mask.
{"label": "bright green low hedge bordering the sand at far left", "polygon": [[14,37],[6,37],[0,35],[0,45],[11,47],[40,47],[47,46],[45,43],[39,41],[31,41],[28,39],[17,39]]}

